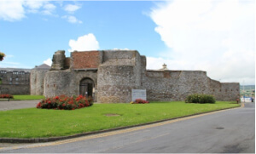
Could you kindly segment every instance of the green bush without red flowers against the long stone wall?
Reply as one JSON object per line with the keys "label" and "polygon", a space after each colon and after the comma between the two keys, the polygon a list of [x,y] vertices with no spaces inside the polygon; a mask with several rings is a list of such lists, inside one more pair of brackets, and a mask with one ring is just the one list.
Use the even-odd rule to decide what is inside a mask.
{"label": "green bush without red flowers against the long stone wall", "polygon": [[200,103],[200,104],[204,104],[204,103],[215,103],[215,98],[214,96],[210,95],[210,94],[190,94],[187,96],[185,102],[186,103]]}

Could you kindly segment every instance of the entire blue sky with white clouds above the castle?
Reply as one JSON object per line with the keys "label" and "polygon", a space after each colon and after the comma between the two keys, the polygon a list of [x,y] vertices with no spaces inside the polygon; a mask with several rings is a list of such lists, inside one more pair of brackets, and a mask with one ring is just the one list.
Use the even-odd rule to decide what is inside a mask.
{"label": "entire blue sky with white clouds above the castle", "polygon": [[202,70],[255,84],[254,0],[0,0],[0,67],[50,64],[56,50],[137,49],[148,69]]}

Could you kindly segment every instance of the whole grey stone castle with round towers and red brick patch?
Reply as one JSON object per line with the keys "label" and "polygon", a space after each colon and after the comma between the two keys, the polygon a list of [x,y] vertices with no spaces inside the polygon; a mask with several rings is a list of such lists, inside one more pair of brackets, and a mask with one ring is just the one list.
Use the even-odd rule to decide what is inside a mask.
{"label": "whole grey stone castle with round towers and red brick patch", "polygon": [[239,83],[220,83],[206,71],[146,70],[137,50],[74,51],[53,55],[50,70],[31,71],[31,94],[92,96],[102,103],[131,102],[131,89],[146,89],[147,100],[185,100],[189,94],[212,94],[216,100],[240,98]]}

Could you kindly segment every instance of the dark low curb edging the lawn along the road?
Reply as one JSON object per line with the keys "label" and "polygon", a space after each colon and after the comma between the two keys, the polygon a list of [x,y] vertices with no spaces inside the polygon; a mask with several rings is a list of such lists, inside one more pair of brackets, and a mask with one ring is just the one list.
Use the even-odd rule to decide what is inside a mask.
{"label": "dark low curb edging the lawn along the road", "polygon": [[151,123],[143,123],[143,124],[137,124],[137,125],[125,126],[125,127],[119,127],[119,128],[110,128],[110,129],[99,130],[99,131],[95,131],[95,132],[89,132],[89,133],[73,134],[73,135],[69,135],[69,136],[49,137],[49,138],[32,138],[32,139],[0,138],[0,143],[44,143],[44,142],[51,142],[51,141],[56,141],[56,140],[67,140],[67,139],[73,139],[73,138],[86,136],[86,135],[90,135],[90,134],[101,134],[101,133],[111,132],[111,131],[125,129],[125,128],[135,128],[135,127],[145,126],[148,124],[162,123],[162,122],[171,121],[171,120],[175,120],[175,119],[181,119],[184,117],[192,117],[192,116],[196,116],[196,115],[202,115],[202,114],[212,113],[212,112],[217,112],[217,111],[225,111],[225,110],[236,109],[236,108],[241,108],[241,107],[244,107],[244,103],[241,103],[241,106],[230,107],[230,108],[226,108],[226,109],[219,109],[216,111],[206,111],[206,112],[196,113],[196,114],[189,115],[189,116],[174,117],[174,118],[164,119],[164,120],[155,121],[155,122],[151,122]]}

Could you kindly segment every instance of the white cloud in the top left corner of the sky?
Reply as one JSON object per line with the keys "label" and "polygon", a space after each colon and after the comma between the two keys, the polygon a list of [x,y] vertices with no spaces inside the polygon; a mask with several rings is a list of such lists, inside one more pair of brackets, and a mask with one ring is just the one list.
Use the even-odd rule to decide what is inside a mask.
{"label": "white cloud in the top left corner of the sky", "polygon": [[0,20],[15,21],[26,17],[25,10],[22,7],[23,0],[0,1]]}

